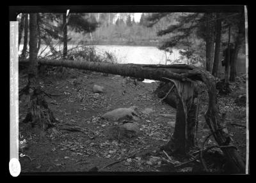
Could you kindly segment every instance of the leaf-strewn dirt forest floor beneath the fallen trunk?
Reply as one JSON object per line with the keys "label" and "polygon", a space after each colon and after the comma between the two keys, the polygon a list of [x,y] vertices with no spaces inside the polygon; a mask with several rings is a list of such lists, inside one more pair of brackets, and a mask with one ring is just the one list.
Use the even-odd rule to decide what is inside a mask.
{"label": "leaf-strewn dirt forest floor beneath the fallen trunk", "polygon": [[[19,89],[27,84],[26,73],[19,73]],[[118,75],[103,75],[102,73],[81,70],[64,69],[63,75],[54,71],[40,75],[40,85],[54,116],[60,123],[78,126],[84,131],[60,130],[58,136],[48,136],[40,140],[36,133],[31,133],[27,124],[21,121],[26,117],[29,108],[29,98],[22,96],[19,101],[19,133],[20,140],[26,140],[27,148],[22,154],[31,157],[20,157],[22,172],[88,172],[93,167],[102,168],[109,163],[124,158],[124,161],[99,170],[100,172],[188,172],[204,173],[200,159],[180,165],[191,159],[191,156],[168,157],[159,148],[170,140],[175,126],[175,108],[160,102],[154,91],[158,83],[128,82],[122,85],[124,78]],[[103,93],[94,93],[93,85],[104,87]],[[126,91],[124,93],[124,90]],[[246,126],[246,107],[236,106],[234,97],[218,98],[221,113],[226,112],[227,129],[232,135],[234,145],[239,154],[246,158],[246,128],[234,126],[231,123]],[[109,139],[109,126],[117,122],[101,119],[101,115],[116,108],[137,106],[140,120],[140,133],[132,138]],[[141,113],[145,108],[153,112]],[[198,133],[196,147],[191,152],[198,151],[204,138],[210,131],[205,125],[204,113],[207,100],[202,100],[198,114]],[[208,145],[215,144],[210,138]],[[127,156],[137,153],[129,158]],[[206,157],[205,157],[206,158]],[[215,157],[220,160],[220,158]],[[169,163],[168,163],[169,161]],[[211,172],[223,173],[223,168],[216,168],[214,157],[207,160]],[[221,165],[222,166],[222,165]],[[221,171],[220,171],[221,170]],[[225,172],[224,172],[225,173]]]}

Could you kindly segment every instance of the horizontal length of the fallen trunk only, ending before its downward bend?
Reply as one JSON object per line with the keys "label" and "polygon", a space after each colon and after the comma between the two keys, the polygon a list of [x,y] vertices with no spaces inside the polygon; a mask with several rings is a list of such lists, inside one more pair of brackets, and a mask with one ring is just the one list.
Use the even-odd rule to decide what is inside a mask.
{"label": "horizontal length of the fallen trunk only, ending before its downward bend", "polygon": [[[22,60],[27,62],[27,60]],[[125,77],[147,78],[166,82],[166,78],[175,80],[201,80],[200,75],[195,71],[195,67],[186,64],[173,65],[150,65],[150,64],[111,64],[106,62],[84,62],[70,60],[38,60],[40,64],[50,66],[63,66],[67,68],[77,68],[79,70],[91,70],[100,73],[111,73]],[[200,73],[199,73],[200,74]]]}

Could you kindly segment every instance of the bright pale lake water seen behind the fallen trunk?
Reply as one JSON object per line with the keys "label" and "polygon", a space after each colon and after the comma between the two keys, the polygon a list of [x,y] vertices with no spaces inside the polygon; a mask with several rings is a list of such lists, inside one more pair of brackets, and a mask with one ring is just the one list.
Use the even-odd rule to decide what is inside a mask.
{"label": "bright pale lake water seen behind the fallen trunk", "polygon": [[[68,45],[68,49],[72,48],[72,45]],[[172,54],[159,50],[157,47],[140,47],[140,46],[123,46],[123,45],[93,45],[97,54],[104,54],[109,52],[116,57],[116,61],[120,64],[134,63],[134,64],[168,64],[177,63],[177,59],[180,58],[179,50],[173,49]],[[20,45],[20,51],[23,45]],[[42,45],[40,51],[44,50],[45,45]],[[59,46],[57,47],[59,48]],[[49,52],[49,47],[44,51],[44,54]],[[44,55],[42,54],[42,55]],[[187,63],[187,61],[180,60],[179,63]],[[220,63],[221,64],[221,63]],[[202,63],[198,63],[195,66],[202,66]],[[223,71],[223,67],[220,66],[220,71]],[[245,56],[239,55],[237,61],[237,73],[245,73]]]}

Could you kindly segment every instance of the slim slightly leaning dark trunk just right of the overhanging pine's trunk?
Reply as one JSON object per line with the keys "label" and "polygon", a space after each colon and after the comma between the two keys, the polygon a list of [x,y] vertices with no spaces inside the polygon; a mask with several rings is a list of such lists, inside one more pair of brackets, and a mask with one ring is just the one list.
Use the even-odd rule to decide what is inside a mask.
{"label": "slim slightly leaning dark trunk just right of the overhanging pine's trunk", "polygon": [[212,67],[212,75],[217,77],[218,68],[220,62],[220,43],[221,43],[221,19],[220,13],[216,14],[216,42],[215,42],[215,53],[214,53],[214,62]]}

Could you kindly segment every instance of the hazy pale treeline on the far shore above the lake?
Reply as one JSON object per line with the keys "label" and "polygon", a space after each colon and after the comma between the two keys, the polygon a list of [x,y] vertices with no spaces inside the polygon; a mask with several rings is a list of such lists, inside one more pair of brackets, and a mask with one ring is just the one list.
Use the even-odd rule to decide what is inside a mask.
{"label": "hazy pale treeline on the far shore above the lake", "polygon": [[[129,13],[121,14],[115,18],[115,13],[108,13],[109,17],[103,13],[93,13],[100,22],[100,26],[93,33],[76,33],[68,31],[68,36],[72,38],[70,43],[82,43],[83,45],[137,45],[137,46],[159,46],[164,37],[157,36],[157,31],[161,29],[161,25],[157,27],[145,26],[145,17],[147,13],[143,13],[140,22],[135,22]],[[92,15],[91,15],[92,16]]]}

